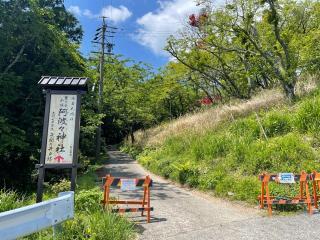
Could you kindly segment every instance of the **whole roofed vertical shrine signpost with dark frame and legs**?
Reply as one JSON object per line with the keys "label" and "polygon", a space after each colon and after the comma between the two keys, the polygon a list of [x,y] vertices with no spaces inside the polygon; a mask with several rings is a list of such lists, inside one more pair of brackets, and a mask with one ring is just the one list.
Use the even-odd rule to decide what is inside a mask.
{"label": "whole roofed vertical shrine signpost with dark frame and legs", "polygon": [[76,187],[80,132],[80,100],[88,78],[44,76],[39,85],[46,94],[37,202],[42,201],[45,170],[71,169],[71,191]]}

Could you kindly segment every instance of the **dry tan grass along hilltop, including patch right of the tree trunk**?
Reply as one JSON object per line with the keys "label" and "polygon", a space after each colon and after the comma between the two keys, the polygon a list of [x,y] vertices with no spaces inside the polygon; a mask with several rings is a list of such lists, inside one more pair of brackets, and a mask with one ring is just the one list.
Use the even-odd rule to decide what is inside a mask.
{"label": "dry tan grass along hilltop, including patch right of the tree trunk", "polygon": [[[320,78],[317,75],[301,76],[296,87],[297,96],[303,97],[313,92],[319,87],[319,80]],[[254,112],[284,105],[286,105],[286,98],[280,90],[265,90],[250,100],[232,100],[215,108],[189,113],[154,128],[137,131],[135,133],[136,142],[134,147],[127,146],[126,150],[135,156],[138,154],[137,150],[141,151],[144,148],[161,146],[171,136],[179,136],[187,132],[205,133],[213,128],[219,128],[225,122],[246,117]]]}

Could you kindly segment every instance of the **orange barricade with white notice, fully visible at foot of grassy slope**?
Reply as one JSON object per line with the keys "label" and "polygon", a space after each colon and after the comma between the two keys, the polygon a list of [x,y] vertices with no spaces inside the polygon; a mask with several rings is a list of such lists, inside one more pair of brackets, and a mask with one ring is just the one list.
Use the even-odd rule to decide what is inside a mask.
{"label": "orange barricade with white notice, fully visible at foot of grassy slope", "polygon": [[[291,176],[290,176],[291,175]],[[301,172],[301,174],[282,173],[282,174],[268,174],[263,173],[259,175],[261,181],[261,194],[258,197],[260,208],[268,207],[269,216],[272,215],[272,205],[285,205],[285,204],[305,204],[308,207],[308,212],[312,214],[311,204],[313,199],[310,197],[308,181],[312,180],[311,174]],[[300,193],[293,198],[275,197],[270,196],[269,182],[293,184],[300,183]]]}

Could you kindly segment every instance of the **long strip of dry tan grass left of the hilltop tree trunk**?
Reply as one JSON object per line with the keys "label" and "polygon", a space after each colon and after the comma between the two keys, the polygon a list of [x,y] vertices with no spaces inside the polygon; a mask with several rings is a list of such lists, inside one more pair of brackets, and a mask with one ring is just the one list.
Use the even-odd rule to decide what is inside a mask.
{"label": "long strip of dry tan grass left of the hilltop tree trunk", "polygon": [[268,109],[285,102],[284,95],[278,90],[268,90],[247,101],[234,101],[196,113],[190,113],[169,123],[135,133],[135,145],[144,147],[161,146],[167,138],[187,132],[205,133],[220,124],[243,117],[261,109]]}

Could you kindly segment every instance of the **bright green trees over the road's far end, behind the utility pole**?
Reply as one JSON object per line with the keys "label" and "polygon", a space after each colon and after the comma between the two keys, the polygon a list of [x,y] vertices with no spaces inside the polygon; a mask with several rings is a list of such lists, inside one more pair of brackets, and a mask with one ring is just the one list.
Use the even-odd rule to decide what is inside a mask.
{"label": "bright green trees over the road's far end, behind the utility pole", "polygon": [[[96,61],[91,68],[97,73]],[[187,83],[184,67],[170,63],[158,73],[141,62],[109,57],[105,63],[102,129],[107,144],[124,137],[134,139],[134,132],[176,118],[192,110],[197,95]],[[98,86],[98,76],[94,77]],[[94,87],[97,102],[97,87]],[[95,104],[97,109],[97,104]]]}

